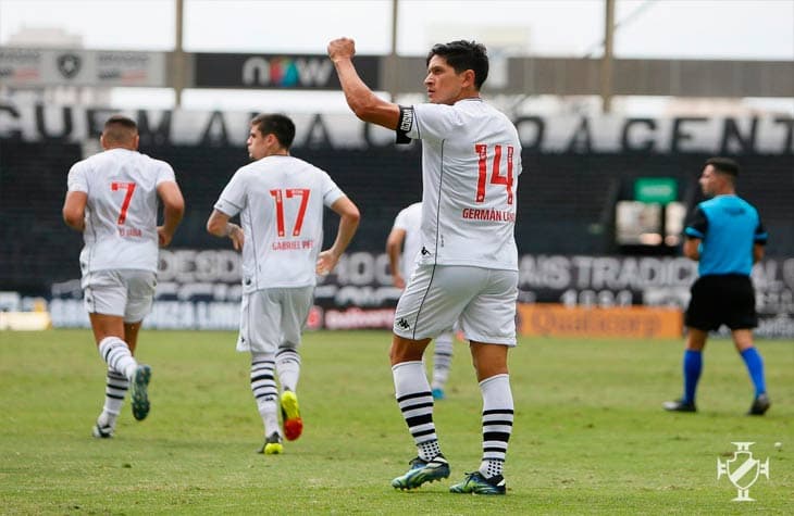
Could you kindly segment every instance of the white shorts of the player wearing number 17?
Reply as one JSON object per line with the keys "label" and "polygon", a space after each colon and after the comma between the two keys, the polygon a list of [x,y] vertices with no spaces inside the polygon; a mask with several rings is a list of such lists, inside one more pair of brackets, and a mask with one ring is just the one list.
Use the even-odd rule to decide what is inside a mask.
{"label": "white shorts of the player wearing number 17", "polygon": [[297,349],[313,302],[311,286],[243,294],[237,351],[275,354],[280,348]]}

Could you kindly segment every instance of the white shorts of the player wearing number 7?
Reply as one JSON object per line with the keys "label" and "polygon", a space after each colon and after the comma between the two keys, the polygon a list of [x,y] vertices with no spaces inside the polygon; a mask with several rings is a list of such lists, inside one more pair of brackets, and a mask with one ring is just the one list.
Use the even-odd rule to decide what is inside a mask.
{"label": "white shorts of the player wearing number 7", "polygon": [[83,303],[89,314],[116,315],[139,323],[151,312],[157,275],[151,270],[97,270],[83,277]]}

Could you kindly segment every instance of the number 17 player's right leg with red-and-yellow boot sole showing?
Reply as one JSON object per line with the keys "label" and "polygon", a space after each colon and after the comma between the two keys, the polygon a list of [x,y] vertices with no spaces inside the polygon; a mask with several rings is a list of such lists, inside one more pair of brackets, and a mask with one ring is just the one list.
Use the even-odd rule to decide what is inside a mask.
{"label": "number 17 player's right leg with red-and-yellow boot sole showing", "polygon": [[278,383],[282,388],[281,411],[284,436],[289,441],[303,431],[303,419],[298,405],[298,379],[300,378],[301,332],[313,303],[312,287],[281,289],[283,338],[275,356]]}

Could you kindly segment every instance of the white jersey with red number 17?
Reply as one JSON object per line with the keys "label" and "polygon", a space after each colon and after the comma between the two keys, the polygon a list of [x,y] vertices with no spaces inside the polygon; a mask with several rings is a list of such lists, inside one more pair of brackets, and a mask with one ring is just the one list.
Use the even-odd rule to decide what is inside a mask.
{"label": "white jersey with red number 17", "polygon": [[215,203],[245,232],[243,291],[317,285],[323,209],[344,192],[325,171],[288,155],[239,168]]}

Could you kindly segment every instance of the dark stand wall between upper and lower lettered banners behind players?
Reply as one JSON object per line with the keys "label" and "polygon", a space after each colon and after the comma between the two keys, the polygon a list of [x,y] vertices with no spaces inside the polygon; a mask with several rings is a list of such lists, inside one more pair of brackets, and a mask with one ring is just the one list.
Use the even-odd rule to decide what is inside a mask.
{"label": "dark stand wall between upper and lower lettered banners behind players", "polygon": [[[247,163],[243,147],[148,146],[171,163],[187,201],[175,248],[220,248],[204,223],[235,169]],[[360,206],[362,222],[351,250],[380,251],[397,212],[421,199],[419,146],[410,149],[296,148],[293,154],[331,173]],[[66,174],[80,146],[61,140],[0,140],[0,290],[47,295],[51,282],[79,277],[80,235],[62,222]],[[697,177],[706,154],[524,152],[516,238],[521,253],[615,254],[613,204],[636,177],[674,177],[687,205],[700,200]],[[768,254],[794,255],[794,155],[736,156],[739,192],[756,204],[770,232]],[[326,217],[326,242],[336,217]],[[674,250],[673,250],[674,251]]]}

